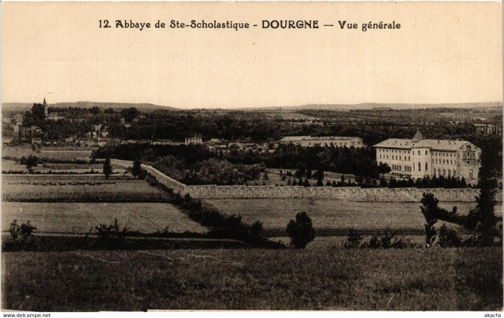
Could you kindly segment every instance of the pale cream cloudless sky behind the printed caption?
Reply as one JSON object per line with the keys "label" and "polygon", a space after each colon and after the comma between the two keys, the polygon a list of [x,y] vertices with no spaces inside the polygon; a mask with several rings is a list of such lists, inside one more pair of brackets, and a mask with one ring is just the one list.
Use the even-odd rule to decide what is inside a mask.
{"label": "pale cream cloudless sky behind the printed caption", "polygon": [[[245,30],[99,20],[248,22]],[[334,27],[262,29],[262,20]],[[338,21],[357,23],[340,29]],[[361,31],[366,22],[401,24]],[[502,8],[454,3],[2,3],[5,102],[234,108],[502,101]]]}

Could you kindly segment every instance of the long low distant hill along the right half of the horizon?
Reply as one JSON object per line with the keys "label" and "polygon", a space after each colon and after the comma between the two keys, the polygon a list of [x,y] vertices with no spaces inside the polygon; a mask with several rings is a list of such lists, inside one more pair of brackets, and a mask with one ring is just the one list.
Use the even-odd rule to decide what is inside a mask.
{"label": "long low distant hill along the right half of the horizon", "polygon": [[300,109],[326,109],[326,110],[350,110],[350,109],[419,109],[419,108],[491,108],[502,107],[502,102],[485,103],[446,103],[446,104],[381,104],[381,103],[362,103],[362,104],[306,104],[300,106],[279,106],[279,107],[255,107],[241,108],[246,110],[300,110]]}

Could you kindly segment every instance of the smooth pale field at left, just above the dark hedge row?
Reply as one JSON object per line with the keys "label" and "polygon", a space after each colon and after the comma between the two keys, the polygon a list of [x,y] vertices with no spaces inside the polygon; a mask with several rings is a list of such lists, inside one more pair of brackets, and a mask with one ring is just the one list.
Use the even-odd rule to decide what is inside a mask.
{"label": "smooth pale field at left, just above the dark hedge row", "polygon": [[167,203],[2,203],[2,231],[13,220],[30,221],[38,232],[87,233],[98,224],[119,225],[153,233],[168,226],[170,232],[206,233],[205,227]]}

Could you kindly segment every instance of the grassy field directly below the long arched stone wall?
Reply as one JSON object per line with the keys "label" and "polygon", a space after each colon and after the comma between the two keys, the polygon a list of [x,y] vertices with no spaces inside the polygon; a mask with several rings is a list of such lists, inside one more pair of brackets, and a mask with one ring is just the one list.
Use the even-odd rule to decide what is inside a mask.
{"label": "grassy field directly below the long arched stone wall", "polygon": [[[260,220],[265,229],[285,229],[296,213],[307,212],[318,229],[393,229],[424,230],[425,219],[420,203],[352,202],[328,199],[226,199],[207,200],[220,211],[241,215],[243,221]],[[472,202],[447,202],[439,206],[467,214]],[[501,205],[496,211],[501,210]],[[437,226],[442,226],[438,222]],[[449,226],[456,226],[447,223]]]}

